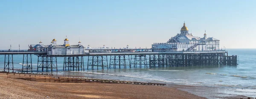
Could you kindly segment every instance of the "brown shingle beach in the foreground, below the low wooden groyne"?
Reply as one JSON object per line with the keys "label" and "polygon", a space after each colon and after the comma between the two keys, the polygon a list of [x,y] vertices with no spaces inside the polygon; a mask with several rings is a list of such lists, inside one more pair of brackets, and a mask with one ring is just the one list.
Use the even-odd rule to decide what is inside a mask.
{"label": "brown shingle beach in the foreground, below the low wooden groyne", "polygon": [[0,96],[14,99],[206,99],[164,86],[35,82],[6,75],[0,76]]}

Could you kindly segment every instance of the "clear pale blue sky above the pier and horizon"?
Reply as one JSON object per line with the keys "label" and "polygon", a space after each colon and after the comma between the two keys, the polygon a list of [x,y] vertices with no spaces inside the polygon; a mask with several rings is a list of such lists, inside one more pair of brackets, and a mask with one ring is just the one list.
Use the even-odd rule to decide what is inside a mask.
{"label": "clear pale blue sky above the pier and horizon", "polygon": [[256,48],[256,0],[0,0],[0,49],[30,44],[151,48],[180,33]]}

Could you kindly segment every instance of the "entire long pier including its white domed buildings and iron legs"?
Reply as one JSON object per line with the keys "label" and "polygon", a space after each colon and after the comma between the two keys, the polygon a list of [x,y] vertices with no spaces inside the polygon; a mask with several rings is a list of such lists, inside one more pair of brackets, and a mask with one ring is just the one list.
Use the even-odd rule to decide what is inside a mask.
{"label": "entire long pier including its white domed buildings and iron legs", "polygon": [[[63,44],[54,38],[51,44],[31,44],[28,50],[2,50],[5,55],[4,71],[14,72],[13,55],[23,55],[22,72],[32,70],[32,55],[38,56],[37,71],[58,71],[57,57],[63,58],[63,71],[84,71],[85,69],[131,69],[175,66],[237,65],[237,56],[228,55],[220,48],[220,40],[193,36],[185,22],[180,33],[165,43],[154,43],[151,48],[102,47],[85,48],[81,41],[70,45],[66,37]],[[10,46],[11,47],[11,46]],[[87,57],[87,60],[84,58]],[[87,64],[84,64],[87,63]],[[0,67],[1,68],[1,67]]]}

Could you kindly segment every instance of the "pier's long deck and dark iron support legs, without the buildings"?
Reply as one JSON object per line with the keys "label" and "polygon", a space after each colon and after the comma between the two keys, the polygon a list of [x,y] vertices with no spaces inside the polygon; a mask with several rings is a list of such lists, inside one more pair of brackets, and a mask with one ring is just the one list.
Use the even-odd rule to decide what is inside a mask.
{"label": "pier's long deck and dark iron support legs, without the buildings", "polygon": [[[140,49],[136,49],[140,50]],[[74,55],[48,55],[28,50],[0,51],[4,55],[4,71],[14,72],[13,55],[23,55],[22,72],[32,72],[32,55],[37,55],[37,71],[58,71],[57,57],[64,60],[64,71],[86,69],[130,69],[175,66],[237,65],[237,56],[225,50],[175,52],[87,52]],[[87,57],[87,60],[84,58]],[[84,64],[87,63],[87,64]]]}

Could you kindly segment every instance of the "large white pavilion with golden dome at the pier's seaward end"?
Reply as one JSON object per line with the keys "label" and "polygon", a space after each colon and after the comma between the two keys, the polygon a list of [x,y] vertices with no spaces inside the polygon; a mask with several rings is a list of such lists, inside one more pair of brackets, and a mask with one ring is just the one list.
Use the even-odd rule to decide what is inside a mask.
{"label": "large white pavilion with golden dome at the pier's seaward end", "polygon": [[213,37],[207,38],[206,31],[203,38],[193,36],[192,33],[189,33],[184,22],[180,33],[170,38],[166,43],[152,44],[152,50],[153,52],[219,50],[219,41]]}

